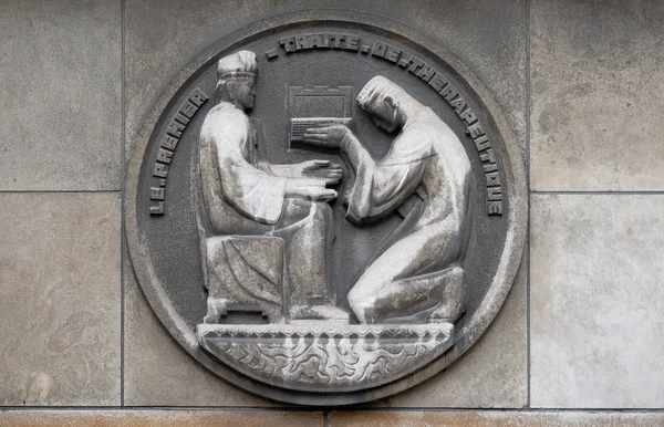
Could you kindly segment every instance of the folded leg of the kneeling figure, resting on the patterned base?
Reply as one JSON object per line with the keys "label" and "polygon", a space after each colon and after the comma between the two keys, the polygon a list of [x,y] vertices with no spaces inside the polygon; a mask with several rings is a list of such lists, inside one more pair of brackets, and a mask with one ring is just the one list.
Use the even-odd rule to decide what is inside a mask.
{"label": "folded leg of the kneeling figure, resting on the patterned base", "polygon": [[[452,221],[425,227],[390,247],[349,293],[361,323],[426,315],[454,322],[465,310],[466,281],[456,264],[459,235]],[[423,273],[426,272],[426,273]]]}

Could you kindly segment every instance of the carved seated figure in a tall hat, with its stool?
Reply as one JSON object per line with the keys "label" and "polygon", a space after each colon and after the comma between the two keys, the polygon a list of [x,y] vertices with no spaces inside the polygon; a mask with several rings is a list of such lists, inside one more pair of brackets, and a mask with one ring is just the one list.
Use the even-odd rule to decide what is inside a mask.
{"label": "carved seated figure in a tall hat, with its stool", "polygon": [[209,292],[205,322],[218,323],[229,311],[262,311],[270,322],[347,319],[331,306],[326,289],[328,201],[336,197],[326,186],[339,183],[341,169],[324,160],[258,163],[257,134],[247,115],[257,73],[252,52],[222,58],[218,103],[200,129],[198,222]]}

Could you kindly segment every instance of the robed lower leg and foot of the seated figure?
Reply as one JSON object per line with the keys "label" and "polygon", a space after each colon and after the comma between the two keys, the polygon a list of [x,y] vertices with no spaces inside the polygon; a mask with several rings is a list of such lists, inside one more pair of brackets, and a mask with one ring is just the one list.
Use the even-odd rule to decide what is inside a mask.
{"label": "robed lower leg and foot of the seated figure", "polygon": [[333,305],[328,290],[331,222],[332,209],[328,204],[288,199],[283,222],[277,225],[282,228],[270,233],[287,242],[291,319],[349,319],[347,313]]}

